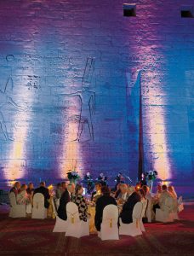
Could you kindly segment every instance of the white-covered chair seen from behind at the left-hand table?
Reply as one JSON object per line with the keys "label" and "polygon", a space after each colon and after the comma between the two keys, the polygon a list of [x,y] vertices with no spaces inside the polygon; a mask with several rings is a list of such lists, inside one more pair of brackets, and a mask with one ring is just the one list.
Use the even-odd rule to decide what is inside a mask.
{"label": "white-covered chair seen from behind at the left-hand table", "polygon": [[44,207],[44,196],[41,193],[33,196],[31,218],[47,218],[47,208]]}

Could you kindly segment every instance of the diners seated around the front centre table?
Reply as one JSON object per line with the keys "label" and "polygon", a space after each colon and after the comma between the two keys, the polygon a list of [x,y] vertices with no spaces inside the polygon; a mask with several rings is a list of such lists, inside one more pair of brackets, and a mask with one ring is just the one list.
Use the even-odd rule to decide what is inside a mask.
{"label": "diners seated around the front centre table", "polygon": [[119,217],[122,218],[124,224],[129,224],[133,222],[132,213],[134,205],[138,201],[141,201],[141,199],[143,200],[144,195],[142,189],[135,191],[134,187],[121,184],[120,192],[116,198],[107,186],[102,186],[101,183],[95,183],[95,191],[91,196],[91,201],[89,201],[83,196],[83,186],[81,184],[75,186],[73,183],[70,183],[67,184],[65,192],[60,197],[58,216],[61,219],[67,219],[66,204],[71,201],[76,203],[80,219],[86,222],[89,218],[88,205],[92,203],[95,206],[95,228],[100,231],[104,208],[108,205],[120,206],[123,204]]}

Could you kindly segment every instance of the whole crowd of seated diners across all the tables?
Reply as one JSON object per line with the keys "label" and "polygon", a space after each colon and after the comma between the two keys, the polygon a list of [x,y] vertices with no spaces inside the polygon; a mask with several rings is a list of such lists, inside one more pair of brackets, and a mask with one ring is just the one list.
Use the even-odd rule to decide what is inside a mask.
{"label": "whole crowd of seated diners across all the tables", "polygon": [[[118,183],[117,190],[111,191],[106,185],[101,183],[95,183],[94,192],[91,197],[83,195],[83,185],[68,182],[58,183],[55,193],[50,194],[48,188],[46,188],[45,182],[41,182],[37,189],[33,188],[33,183],[20,185],[20,182],[14,183],[14,187],[10,189],[10,192],[14,192],[16,201],[18,204],[32,204],[33,195],[41,193],[44,196],[44,207],[49,207],[50,196],[54,197],[55,201],[59,201],[57,209],[58,216],[61,219],[66,220],[66,204],[68,202],[74,202],[79,211],[79,217],[83,221],[87,221],[89,218],[88,206],[95,207],[94,224],[96,230],[100,231],[100,224],[102,222],[103,210],[107,205],[116,205],[119,208],[119,218],[122,219],[123,224],[130,224],[133,222],[133,210],[134,205],[141,201],[143,207],[149,200],[154,200],[153,212],[156,212],[157,208],[163,210],[165,200],[168,197],[173,199],[172,209],[177,211],[177,195],[173,186],[157,185],[157,193],[154,197],[151,197],[150,189],[146,185],[140,186],[140,184],[134,186],[126,183]],[[118,220],[119,223],[119,220]]]}

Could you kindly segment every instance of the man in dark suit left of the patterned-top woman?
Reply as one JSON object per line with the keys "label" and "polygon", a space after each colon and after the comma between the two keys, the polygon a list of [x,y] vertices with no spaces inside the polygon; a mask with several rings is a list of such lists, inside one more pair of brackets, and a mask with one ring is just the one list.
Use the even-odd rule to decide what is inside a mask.
{"label": "man in dark suit left of the patterned-top woman", "polygon": [[66,204],[71,201],[71,194],[74,192],[75,184],[68,184],[67,189],[60,197],[60,207],[58,208],[58,216],[61,219],[66,220]]}

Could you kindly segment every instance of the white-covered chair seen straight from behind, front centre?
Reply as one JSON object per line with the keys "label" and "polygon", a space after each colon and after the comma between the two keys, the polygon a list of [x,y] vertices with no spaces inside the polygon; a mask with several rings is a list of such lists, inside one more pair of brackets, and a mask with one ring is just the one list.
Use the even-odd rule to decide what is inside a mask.
{"label": "white-covered chair seen straight from behind, front centre", "polygon": [[101,240],[118,240],[118,208],[108,205],[102,214],[102,223],[98,233]]}

